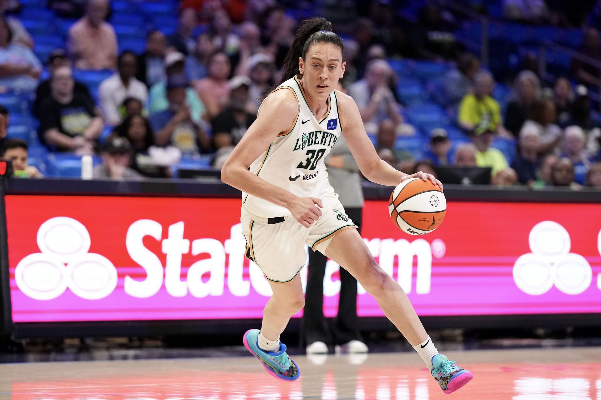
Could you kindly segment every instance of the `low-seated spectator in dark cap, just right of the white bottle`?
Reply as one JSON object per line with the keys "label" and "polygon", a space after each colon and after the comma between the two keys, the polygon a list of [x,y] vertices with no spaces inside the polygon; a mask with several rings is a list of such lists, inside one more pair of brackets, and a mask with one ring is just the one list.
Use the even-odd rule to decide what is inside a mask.
{"label": "low-seated spectator in dark cap, just right of the white bottle", "polygon": [[92,176],[110,179],[142,179],[142,175],[131,168],[132,145],[124,137],[107,140],[100,151],[102,165],[94,167]]}

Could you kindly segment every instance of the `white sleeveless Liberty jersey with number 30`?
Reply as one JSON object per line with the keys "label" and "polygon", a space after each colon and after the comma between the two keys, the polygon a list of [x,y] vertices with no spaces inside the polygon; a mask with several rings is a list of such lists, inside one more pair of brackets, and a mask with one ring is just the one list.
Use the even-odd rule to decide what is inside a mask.
{"label": "white sleeveless Liberty jersey with number 30", "polygon": [[[323,160],[342,129],[336,91],[330,94],[328,112],[318,120],[309,108],[296,77],[288,79],[275,90],[291,90],[299,104],[299,113],[290,130],[279,134],[249,170],[299,197],[322,198],[334,194]],[[285,207],[244,192],[242,204],[249,212],[266,218],[290,215]]]}

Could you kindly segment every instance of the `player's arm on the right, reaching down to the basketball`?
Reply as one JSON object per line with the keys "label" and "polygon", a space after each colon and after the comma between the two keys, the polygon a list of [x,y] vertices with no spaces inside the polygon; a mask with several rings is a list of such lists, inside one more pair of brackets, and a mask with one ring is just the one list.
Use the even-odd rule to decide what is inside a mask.
{"label": "player's arm on the right, reaching down to the basketball", "polygon": [[396,186],[403,182],[404,179],[417,177],[424,179],[424,181],[430,179],[433,184],[439,185],[442,188],[441,182],[432,175],[421,171],[413,175],[407,175],[395,170],[386,161],[380,159],[376,149],[374,149],[373,143],[371,143],[371,140],[367,137],[367,133],[365,133],[359,109],[353,98],[341,92],[336,92],[336,98],[340,105],[338,110],[340,110],[339,116],[343,127],[342,133],[344,139],[365,178],[376,184]]}

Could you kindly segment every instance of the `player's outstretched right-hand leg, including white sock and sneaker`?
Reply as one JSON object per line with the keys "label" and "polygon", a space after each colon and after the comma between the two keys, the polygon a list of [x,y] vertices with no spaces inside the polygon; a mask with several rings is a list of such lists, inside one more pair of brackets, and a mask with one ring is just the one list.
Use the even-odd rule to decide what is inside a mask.
{"label": "player's outstretched right-hand leg, including white sock and sneaker", "polygon": [[471,372],[438,354],[409,298],[400,285],[376,263],[357,230],[347,229],[338,233],[325,248],[325,254],[344,265],[376,299],[386,317],[426,362],[445,393],[460,389],[472,379]]}

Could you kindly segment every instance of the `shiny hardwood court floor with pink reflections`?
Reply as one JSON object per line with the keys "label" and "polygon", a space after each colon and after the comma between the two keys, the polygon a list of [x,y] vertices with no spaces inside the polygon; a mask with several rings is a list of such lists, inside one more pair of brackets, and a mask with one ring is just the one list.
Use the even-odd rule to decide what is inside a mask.
{"label": "shiny hardwood court floor with pink reflections", "polygon": [[601,400],[601,347],[448,351],[474,380],[447,396],[414,353],[367,359],[296,356],[301,378],[276,380],[252,357],[0,365],[12,400]]}

